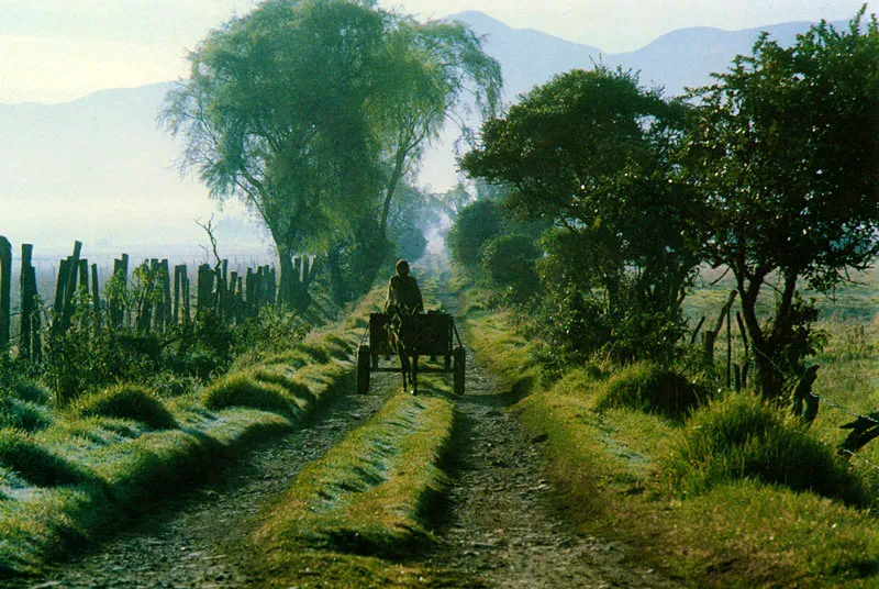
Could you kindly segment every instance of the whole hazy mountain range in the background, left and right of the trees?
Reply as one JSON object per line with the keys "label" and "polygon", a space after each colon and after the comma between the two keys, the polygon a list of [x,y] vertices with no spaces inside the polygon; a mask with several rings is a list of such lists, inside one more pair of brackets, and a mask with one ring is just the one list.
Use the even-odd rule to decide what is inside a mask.
{"label": "whole hazy mountain range in the background, left and right of the trees", "polygon": [[[604,54],[535,30],[512,29],[480,12],[448,18],[486,36],[486,51],[503,68],[504,96],[513,101],[535,85],[572,68],[603,62],[641,71],[645,86],[666,95],[710,81],[736,54],[747,54],[760,31],[791,43],[809,23],[748,31],[686,29],[646,47]],[[845,23],[838,23],[844,25]],[[155,122],[168,84],[104,90],[62,104],[0,104],[0,235],[18,249],[34,243],[37,253],[64,252],[75,238],[86,248],[189,247],[198,251],[204,233],[193,219],[216,209],[207,189],[181,179],[174,168],[180,146]],[[450,133],[427,154],[421,181],[443,190],[456,179],[447,147]],[[220,246],[263,248],[265,238],[241,207],[220,215]],[[153,255],[162,255],[162,251]]]}

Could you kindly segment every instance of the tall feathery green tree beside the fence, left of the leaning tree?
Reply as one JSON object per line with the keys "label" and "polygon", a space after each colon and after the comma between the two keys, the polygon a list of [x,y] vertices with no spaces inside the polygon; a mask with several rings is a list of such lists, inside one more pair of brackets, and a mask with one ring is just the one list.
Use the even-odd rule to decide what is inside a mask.
{"label": "tall feathery green tree beside the fence, left of the leaning tree", "polygon": [[186,140],[182,165],[266,223],[288,304],[303,303],[292,256],[375,197],[366,105],[383,91],[370,71],[386,20],[342,0],[266,2],[212,31],[166,97],[162,120]]}

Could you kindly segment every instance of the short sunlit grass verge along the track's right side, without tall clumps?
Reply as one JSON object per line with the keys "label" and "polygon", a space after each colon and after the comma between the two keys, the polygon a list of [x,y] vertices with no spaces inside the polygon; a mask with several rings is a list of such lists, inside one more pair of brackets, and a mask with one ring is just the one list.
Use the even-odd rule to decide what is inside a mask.
{"label": "short sunlit grass verge along the track's right side, without tall clumps", "polygon": [[879,526],[869,510],[755,478],[672,489],[674,444],[688,426],[704,426],[699,418],[681,423],[608,403],[608,380],[585,368],[543,387],[522,362],[534,355],[513,320],[474,315],[471,346],[523,388],[514,411],[533,434],[547,435],[550,475],[569,491],[583,533],[622,540],[632,557],[692,587],[879,587]]}

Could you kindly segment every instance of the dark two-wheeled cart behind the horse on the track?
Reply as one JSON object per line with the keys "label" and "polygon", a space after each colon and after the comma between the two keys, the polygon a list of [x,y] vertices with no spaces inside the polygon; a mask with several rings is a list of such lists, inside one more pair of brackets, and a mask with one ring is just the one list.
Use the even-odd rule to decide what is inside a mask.
{"label": "dark two-wheeled cart behind the horse on the track", "polygon": [[[391,321],[390,313],[370,313],[360,346],[357,348],[357,392],[366,393],[369,390],[369,375],[371,373],[399,373],[401,371],[397,354],[388,345],[388,325]],[[455,320],[442,311],[427,311],[414,315],[418,321],[418,343],[415,353],[427,356],[430,362],[419,366],[419,374],[445,373],[453,375],[453,390],[455,394],[464,394],[464,370],[466,358],[464,344],[461,344]],[[457,345],[455,345],[457,343]],[[382,365],[392,362],[393,366]],[[439,360],[442,359],[442,365]]]}

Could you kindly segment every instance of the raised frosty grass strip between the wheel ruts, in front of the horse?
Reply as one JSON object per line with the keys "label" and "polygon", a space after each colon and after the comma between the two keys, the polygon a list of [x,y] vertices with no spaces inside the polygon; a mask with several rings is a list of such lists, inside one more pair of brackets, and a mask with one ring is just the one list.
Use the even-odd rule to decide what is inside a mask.
{"label": "raised frosty grass strip between the wheel ruts, in front of the horse", "polygon": [[419,571],[396,560],[431,541],[455,421],[448,391],[425,385],[425,394],[391,398],[262,515],[253,544],[265,586],[418,582]]}

